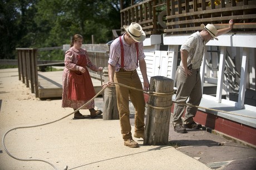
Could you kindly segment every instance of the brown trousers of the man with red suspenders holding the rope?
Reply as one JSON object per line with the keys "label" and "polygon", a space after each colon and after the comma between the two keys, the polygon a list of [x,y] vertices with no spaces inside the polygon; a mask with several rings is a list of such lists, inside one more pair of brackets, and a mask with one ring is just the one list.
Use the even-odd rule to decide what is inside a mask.
{"label": "brown trousers of the man with red suspenders holding the rope", "polygon": [[[140,78],[137,74],[136,69],[134,71],[124,71],[124,69],[120,69],[119,72],[115,72],[114,82],[125,84],[127,86],[131,86],[137,89],[142,89],[142,84],[140,82]],[[118,84],[115,84],[115,86],[122,138],[124,139],[124,141],[127,141],[127,139],[132,139],[129,97],[135,108],[135,132],[144,134],[144,94],[142,91],[119,86]]]}

